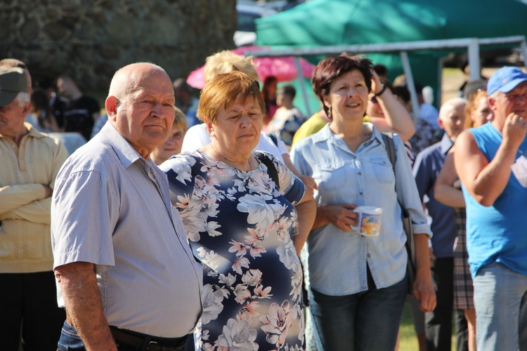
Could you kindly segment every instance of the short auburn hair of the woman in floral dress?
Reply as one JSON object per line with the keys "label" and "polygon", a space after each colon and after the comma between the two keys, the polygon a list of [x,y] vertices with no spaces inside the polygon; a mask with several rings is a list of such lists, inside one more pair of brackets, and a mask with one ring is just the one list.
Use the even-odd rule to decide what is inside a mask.
{"label": "short auburn hair of the woman in floral dress", "polygon": [[201,121],[207,118],[214,123],[221,107],[227,110],[234,102],[249,99],[258,103],[262,114],[266,112],[257,81],[239,71],[218,74],[207,81],[201,91],[197,118]]}

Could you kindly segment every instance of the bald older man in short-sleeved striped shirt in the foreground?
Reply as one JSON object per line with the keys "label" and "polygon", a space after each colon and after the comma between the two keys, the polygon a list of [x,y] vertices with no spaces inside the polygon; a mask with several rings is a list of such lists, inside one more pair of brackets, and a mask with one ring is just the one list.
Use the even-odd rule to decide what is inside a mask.
{"label": "bald older man in short-sleeved striped shirt in the foreground", "polygon": [[150,159],[174,123],[164,69],[119,69],[108,122],[66,161],[51,208],[58,350],[181,350],[200,318],[202,268],[193,258],[167,176]]}

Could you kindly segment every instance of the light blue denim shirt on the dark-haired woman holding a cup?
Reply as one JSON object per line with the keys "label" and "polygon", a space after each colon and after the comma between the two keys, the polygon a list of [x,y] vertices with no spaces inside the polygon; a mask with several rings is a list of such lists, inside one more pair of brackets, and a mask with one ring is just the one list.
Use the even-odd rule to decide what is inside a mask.
{"label": "light blue denim shirt on the dark-haired woman holding a cup", "polygon": [[[299,172],[313,177],[318,185],[317,206],[346,203],[383,210],[379,237],[363,237],[355,230],[344,232],[332,224],[309,234],[311,288],[330,296],[367,290],[367,265],[379,289],[401,282],[406,274],[406,236],[395,192],[396,178],[381,133],[370,123],[365,126],[372,130],[372,136],[356,152],[349,150],[328,124],[301,140],[291,153]],[[412,218],[414,233],[431,237],[404,145],[397,135],[393,140],[397,189],[402,192],[403,205]]]}

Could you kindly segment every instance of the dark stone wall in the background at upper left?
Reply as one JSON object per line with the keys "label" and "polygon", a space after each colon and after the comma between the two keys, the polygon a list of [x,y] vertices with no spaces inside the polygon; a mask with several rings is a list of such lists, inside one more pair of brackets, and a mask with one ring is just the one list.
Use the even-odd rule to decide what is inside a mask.
{"label": "dark stone wall in the background at upper left", "polygon": [[37,82],[67,73],[105,91],[131,62],[186,77],[233,48],[235,27],[235,0],[1,0],[0,58],[26,62]]}

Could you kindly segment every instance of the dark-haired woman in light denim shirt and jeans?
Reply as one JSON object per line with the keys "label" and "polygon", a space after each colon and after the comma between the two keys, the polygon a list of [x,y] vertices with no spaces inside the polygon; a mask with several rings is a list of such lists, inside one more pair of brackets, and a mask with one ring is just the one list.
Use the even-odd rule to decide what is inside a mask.
{"label": "dark-haired woman in light denim shirt and jeans", "polygon": [[[368,93],[389,106],[395,98],[374,75],[372,62],[343,53],[322,60],[313,90],[332,119],[292,150],[300,173],[318,184],[317,214],[308,237],[311,313],[319,350],[393,350],[407,293],[405,232],[395,185],[412,217],[417,253],[413,293],[419,307],[436,305],[429,267],[429,225],[403,143],[396,173],[382,135],[363,124]],[[353,229],[357,206],[383,209],[378,237]]]}

